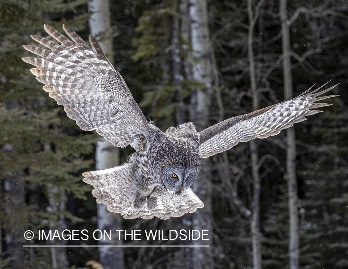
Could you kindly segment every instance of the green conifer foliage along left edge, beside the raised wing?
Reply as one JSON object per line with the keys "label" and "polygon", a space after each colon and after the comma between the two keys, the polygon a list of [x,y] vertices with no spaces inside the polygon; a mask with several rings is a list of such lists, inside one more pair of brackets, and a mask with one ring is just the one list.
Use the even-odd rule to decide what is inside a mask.
{"label": "green conifer foliage along left edge, beside the raised wing", "polygon": [[[55,21],[57,17],[82,30],[88,16],[84,4],[86,1],[0,2],[2,268],[69,264],[62,248],[23,247],[34,244],[23,234],[32,230],[38,235],[39,229],[48,228],[62,231],[66,225],[81,221],[68,212],[66,202],[67,197],[85,199],[89,188],[81,182],[80,172],[90,165],[83,157],[92,152],[95,137],[82,134],[66,119],[63,109],[41,89],[21,57],[29,56],[23,44],[34,45],[30,33],[46,36],[44,23],[61,29],[62,21]],[[50,241],[40,243],[49,245]]]}

